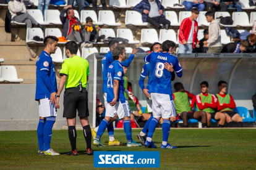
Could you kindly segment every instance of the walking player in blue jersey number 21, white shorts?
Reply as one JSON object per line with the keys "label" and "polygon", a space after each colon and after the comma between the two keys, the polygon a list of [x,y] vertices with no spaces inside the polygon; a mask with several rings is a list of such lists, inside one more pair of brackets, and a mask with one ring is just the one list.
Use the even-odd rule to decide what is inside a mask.
{"label": "walking player in blue jersey number 21, white shorts", "polygon": [[122,68],[122,62],[126,59],[124,46],[118,46],[113,50],[113,59],[114,62],[108,67],[108,80],[106,82],[106,115],[105,119],[100,123],[93,144],[98,147],[105,147],[105,145],[100,142],[100,137],[103,135],[108,123],[117,113],[120,119],[124,118],[124,132],[126,133],[127,147],[140,147],[142,144],[138,144],[132,140],[130,108],[126,97],[124,97],[124,69]]}

